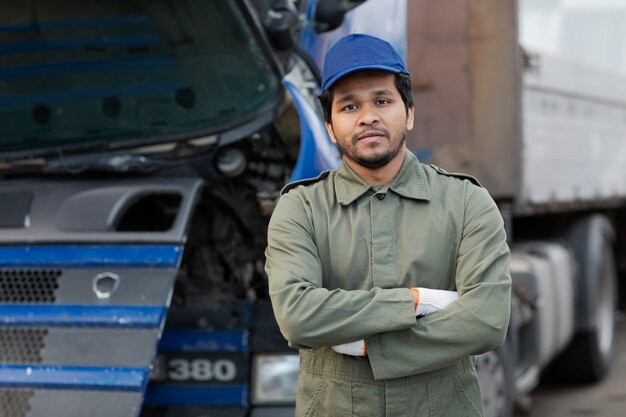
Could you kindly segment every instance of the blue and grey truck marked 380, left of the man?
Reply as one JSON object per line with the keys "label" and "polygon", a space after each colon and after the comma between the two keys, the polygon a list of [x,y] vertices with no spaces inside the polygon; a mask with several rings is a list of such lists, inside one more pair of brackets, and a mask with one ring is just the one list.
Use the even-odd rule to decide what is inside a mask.
{"label": "blue and grey truck marked 380, left of the man", "polygon": [[263,253],[339,160],[316,3],[0,3],[0,415],[289,413]]}

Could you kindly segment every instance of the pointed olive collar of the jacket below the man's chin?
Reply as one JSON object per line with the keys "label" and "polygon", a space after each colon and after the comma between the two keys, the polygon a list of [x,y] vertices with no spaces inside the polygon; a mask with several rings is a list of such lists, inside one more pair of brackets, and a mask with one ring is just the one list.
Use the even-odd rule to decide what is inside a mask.
{"label": "pointed olive collar of the jacket below the man's chin", "polygon": [[[337,169],[334,178],[335,196],[342,206],[347,206],[372,188],[363,181],[345,162]],[[407,149],[400,171],[391,180],[389,190],[413,200],[430,200],[430,187],[426,173],[417,157]]]}

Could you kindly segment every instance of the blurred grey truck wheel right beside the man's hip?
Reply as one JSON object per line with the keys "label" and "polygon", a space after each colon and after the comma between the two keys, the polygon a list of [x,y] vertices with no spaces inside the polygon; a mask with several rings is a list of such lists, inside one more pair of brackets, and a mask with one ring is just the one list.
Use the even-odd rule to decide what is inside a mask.
{"label": "blurred grey truck wheel right beside the man's hip", "polygon": [[508,343],[497,350],[476,356],[476,374],[483,396],[485,417],[511,417],[513,366]]}

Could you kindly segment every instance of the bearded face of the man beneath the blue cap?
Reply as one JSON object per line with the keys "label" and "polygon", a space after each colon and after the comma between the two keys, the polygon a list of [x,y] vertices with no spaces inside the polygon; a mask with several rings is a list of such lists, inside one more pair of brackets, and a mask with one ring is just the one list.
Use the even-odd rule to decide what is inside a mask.
{"label": "bearded face of the man beneath the blue cap", "polygon": [[413,110],[406,111],[393,73],[355,72],[333,86],[332,124],[326,129],[348,162],[380,168],[403,156]]}

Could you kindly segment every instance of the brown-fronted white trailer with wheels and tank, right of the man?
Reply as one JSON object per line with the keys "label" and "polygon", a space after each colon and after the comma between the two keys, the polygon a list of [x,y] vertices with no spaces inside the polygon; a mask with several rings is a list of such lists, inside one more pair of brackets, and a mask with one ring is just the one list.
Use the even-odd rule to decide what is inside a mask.
{"label": "brown-fronted white trailer with wheels and tank, right of the man", "polygon": [[476,176],[507,223],[509,336],[478,361],[487,414],[510,415],[542,374],[596,381],[614,356],[626,2],[417,0],[408,10],[409,147]]}

